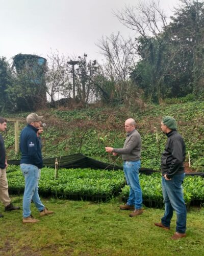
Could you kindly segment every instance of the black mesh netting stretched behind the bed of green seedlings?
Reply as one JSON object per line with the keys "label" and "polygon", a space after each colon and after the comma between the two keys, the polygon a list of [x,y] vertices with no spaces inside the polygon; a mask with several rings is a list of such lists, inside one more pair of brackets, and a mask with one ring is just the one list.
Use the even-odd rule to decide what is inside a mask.
{"label": "black mesh netting stretched behind the bed of green seedlings", "polygon": [[[86,157],[83,154],[74,154],[69,156],[58,157],[58,167],[59,168],[92,168],[92,169],[106,169],[106,170],[122,170],[123,167],[119,165],[104,163],[95,160],[90,157]],[[44,166],[55,168],[56,157],[43,159]],[[19,165],[20,160],[10,160],[8,164]],[[158,172],[157,170],[152,170],[148,168],[140,168],[140,173],[150,175],[152,173]],[[191,176],[202,176],[204,178],[204,173],[187,173],[186,175]]]}

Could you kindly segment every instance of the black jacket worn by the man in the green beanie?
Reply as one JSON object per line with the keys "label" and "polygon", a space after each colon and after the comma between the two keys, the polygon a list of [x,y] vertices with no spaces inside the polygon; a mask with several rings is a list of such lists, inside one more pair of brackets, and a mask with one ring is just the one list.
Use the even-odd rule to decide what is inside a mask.
{"label": "black jacket worn by the man in the green beanie", "polygon": [[183,137],[177,131],[171,131],[166,135],[168,139],[162,153],[161,168],[162,175],[167,174],[167,178],[170,179],[176,174],[184,173],[186,146]]}

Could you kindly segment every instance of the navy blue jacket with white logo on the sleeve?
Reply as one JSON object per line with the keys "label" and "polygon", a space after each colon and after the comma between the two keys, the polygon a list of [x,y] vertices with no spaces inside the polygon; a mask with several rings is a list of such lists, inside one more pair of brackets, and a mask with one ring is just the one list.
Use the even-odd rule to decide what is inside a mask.
{"label": "navy blue jacket with white logo on the sleeve", "polygon": [[38,129],[28,124],[20,134],[21,163],[27,163],[42,168],[41,145],[37,137]]}

